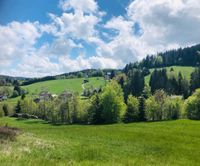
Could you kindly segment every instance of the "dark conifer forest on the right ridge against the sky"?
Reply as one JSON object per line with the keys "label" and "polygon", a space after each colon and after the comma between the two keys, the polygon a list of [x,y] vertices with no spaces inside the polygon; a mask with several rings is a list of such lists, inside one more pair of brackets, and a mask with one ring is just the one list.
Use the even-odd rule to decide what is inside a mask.
{"label": "dark conifer forest on the right ridge against the sky", "polygon": [[150,69],[168,66],[198,66],[199,64],[200,44],[158,53],[157,55],[148,55],[141,62],[130,63],[126,68]]}

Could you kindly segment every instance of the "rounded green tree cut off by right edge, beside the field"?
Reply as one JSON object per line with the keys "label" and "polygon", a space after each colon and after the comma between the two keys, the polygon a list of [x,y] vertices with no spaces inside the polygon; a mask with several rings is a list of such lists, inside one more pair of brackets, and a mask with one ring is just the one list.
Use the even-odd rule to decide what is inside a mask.
{"label": "rounded green tree cut off by right edge, beside the field", "polygon": [[185,109],[189,119],[200,120],[200,89],[185,101]]}

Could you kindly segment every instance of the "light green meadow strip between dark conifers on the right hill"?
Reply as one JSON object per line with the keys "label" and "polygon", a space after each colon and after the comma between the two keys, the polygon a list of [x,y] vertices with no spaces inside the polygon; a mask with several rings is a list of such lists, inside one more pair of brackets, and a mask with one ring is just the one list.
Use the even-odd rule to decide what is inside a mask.
{"label": "light green meadow strip between dark conifers on the right hill", "polygon": [[[171,66],[171,67],[164,67],[169,72],[171,68],[174,69],[175,73],[178,75],[178,72],[180,71],[187,80],[190,80],[190,75],[194,71],[194,67],[187,67],[187,66]],[[157,68],[162,69],[162,68]],[[152,73],[154,69],[150,69],[150,73]],[[145,77],[145,83],[149,84],[150,81],[150,74]]]}

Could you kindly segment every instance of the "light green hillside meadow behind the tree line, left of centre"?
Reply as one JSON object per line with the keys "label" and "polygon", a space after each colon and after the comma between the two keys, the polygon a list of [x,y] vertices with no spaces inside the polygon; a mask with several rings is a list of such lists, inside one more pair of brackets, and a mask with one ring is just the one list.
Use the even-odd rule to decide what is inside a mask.
{"label": "light green hillside meadow behind the tree line, left of centre", "polygon": [[[39,82],[28,86],[22,86],[22,88],[26,89],[29,92],[29,94],[38,94],[44,88],[54,94],[59,94],[64,90],[70,90],[82,93],[83,91],[83,88],[81,86],[82,83],[83,83],[83,78],[61,79],[61,80]],[[99,87],[101,85],[103,86],[105,85],[105,80],[102,77],[89,78],[89,83],[87,83],[87,85],[88,86],[93,85],[94,87]]]}

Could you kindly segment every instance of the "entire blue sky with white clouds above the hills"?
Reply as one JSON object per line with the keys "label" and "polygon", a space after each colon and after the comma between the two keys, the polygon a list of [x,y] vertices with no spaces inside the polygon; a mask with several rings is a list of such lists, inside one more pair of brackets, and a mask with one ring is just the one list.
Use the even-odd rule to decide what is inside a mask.
{"label": "entire blue sky with white clouds above the hills", "polygon": [[200,43],[199,0],[0,0],[0,74],[123,68]]}

